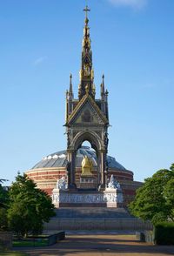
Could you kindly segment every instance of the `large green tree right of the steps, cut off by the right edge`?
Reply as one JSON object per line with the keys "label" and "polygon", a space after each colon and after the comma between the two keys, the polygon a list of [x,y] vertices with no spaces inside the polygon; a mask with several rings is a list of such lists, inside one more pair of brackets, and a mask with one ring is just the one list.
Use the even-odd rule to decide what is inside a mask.
{"label": "large green tree right of the steps, cut off by the right edge", "polygon": [[173,219],[170,192],[173,179],[174,165],[170,170],[159,170],[151,178],[145,179],[129,206],[131,213],[138,218],[151,220],[153,224]]}

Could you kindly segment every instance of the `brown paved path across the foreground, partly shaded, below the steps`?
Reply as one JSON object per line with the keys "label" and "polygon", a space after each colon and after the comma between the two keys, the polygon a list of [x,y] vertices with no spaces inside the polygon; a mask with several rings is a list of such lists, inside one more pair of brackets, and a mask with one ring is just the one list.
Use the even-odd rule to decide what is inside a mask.
{"label": "brown paved path across the foreground, partly shaded, below the steps", "polygon": [[57,245],[18,249],[31,256],[162,256],[174,255],[174,246],[152,246],[140,243],[135,235],[68,234]]}

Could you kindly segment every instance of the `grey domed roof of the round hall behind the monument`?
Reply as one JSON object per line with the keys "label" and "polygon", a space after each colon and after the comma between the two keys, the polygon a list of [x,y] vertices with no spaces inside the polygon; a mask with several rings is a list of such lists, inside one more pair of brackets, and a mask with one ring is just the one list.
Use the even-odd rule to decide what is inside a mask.
{"label": "grey domed roof of the round hall behind the monument", "polygon": [[[92,160],[93,166],[97,167],[97,156],[96,152],[90,149],[88,146],[82,146],[77,150],[77,167],[81,167],[84,156],[89,157]],[[120,165],[115,158],[107,156],[109,168],[116,168],[118,170],[125,171],[123,165]],[[37,165],[33,166],[32,169],[37,168],[49,168],[49,167],[64,167],[67,163],[67,152],[56,152],[44,157]]]}

